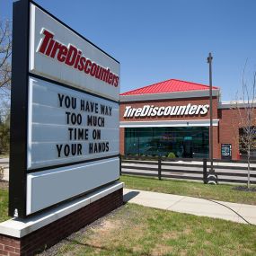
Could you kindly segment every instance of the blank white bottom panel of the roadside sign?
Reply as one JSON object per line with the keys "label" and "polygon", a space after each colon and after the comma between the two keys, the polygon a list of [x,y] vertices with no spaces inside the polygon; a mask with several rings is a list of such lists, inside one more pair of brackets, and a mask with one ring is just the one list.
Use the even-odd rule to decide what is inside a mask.
{"label": "blank white bottom panel of the roadside sign", "polygon": [[27,214],[119,179],[119,157],[27,175]]}

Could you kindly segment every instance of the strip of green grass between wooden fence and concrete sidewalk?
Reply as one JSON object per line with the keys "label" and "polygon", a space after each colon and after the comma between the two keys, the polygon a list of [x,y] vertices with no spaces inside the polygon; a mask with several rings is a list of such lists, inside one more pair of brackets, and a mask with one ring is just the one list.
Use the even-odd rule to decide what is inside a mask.
{"label": "strip of green grass between wooden fence and concrete sidewalk", "polygon": [[256,205],[256,192],[234,190],[234,185],[207,185],[193,181],[159,181],[154,178],[144,178],[122,175],[120,181],[125,182],[128,189],[148,190],[202,199]]}

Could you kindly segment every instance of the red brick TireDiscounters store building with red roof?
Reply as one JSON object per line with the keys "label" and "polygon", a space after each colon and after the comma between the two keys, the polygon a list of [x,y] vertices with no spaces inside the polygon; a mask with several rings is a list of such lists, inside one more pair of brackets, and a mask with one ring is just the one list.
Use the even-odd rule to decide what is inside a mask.
{"label": "red brick TireDiscounters store building with red roof", "polygon": [[[213,87],[214,158],[241,157],[234,106],[221,102],[220,89]],[[209,116],[209,88],[204,84],[171,79],[121,93],[120,153],[208,157]]]}

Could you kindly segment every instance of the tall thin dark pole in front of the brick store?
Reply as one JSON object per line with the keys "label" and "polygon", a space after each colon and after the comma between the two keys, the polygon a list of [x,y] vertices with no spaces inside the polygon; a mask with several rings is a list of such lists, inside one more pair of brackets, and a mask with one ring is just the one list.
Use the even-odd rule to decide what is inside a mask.
{"label": "tall thin dark pole in front of the brick store", "polygon": [[212,60],[211,53],[207,57],[209,64],[209,100],[210,100],[210,127],[209,127],[209,157],[210,157],[210,170],[207,176],[207,183],[216,184],[216,175],[213,169],[213,86],[212,86]]}

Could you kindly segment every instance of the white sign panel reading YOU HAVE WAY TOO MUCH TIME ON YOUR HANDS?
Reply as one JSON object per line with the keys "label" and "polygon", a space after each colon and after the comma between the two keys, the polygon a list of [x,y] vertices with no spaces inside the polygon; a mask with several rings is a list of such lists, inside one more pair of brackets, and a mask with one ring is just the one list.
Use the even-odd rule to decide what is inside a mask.
{"label": "white sign panel reading YOU HAVE WAY TOO MUCH TIME ON YOUR HANDS", "polygon": [[119,154],[119,104],[30,77],[28,170]]}

